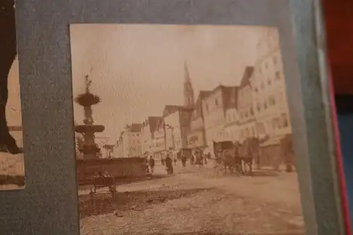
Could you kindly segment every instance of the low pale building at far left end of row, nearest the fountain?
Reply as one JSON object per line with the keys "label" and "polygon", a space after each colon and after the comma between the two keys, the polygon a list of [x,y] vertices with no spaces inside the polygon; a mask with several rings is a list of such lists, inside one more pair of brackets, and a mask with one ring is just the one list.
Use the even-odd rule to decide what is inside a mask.
{"label": "low pale building at far left end of row, nearest the fountain", "polygon": [[124,128],[114,147],[114,157],[140,157],[143,155],[141,129],[141,123],[132,123]]}

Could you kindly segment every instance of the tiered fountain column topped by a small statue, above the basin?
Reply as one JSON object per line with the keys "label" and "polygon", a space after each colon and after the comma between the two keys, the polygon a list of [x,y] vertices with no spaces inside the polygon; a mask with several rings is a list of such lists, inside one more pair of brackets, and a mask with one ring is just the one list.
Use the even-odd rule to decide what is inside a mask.
{"label": "tiered fountain column topped by a small statue, above the basin", "polygon": [[100,97],[90,92],[92,80],[85,76],[85,93],[78,95],[75,102],[80,104],[85,111],[85,119],[83,125],[76,125],[75,131],[83,135],[83,144],[79,147],[79,151],[83,153],[83,159],[99,158],[100,147],[95,143],[95,133],[104,131],[104,126],[94,125],[92,118],[92,105],[100,103]]}

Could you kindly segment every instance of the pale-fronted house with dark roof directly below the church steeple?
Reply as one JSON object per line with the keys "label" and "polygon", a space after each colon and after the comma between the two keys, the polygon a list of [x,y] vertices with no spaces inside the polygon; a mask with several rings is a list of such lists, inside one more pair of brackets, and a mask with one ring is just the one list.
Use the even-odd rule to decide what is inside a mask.
{"label": "pale-fronted house with dark roof directly below the church steeple", "polygon": [[163,111],[165,150],[179,152],[188,148],[192,107],[166,106]]}

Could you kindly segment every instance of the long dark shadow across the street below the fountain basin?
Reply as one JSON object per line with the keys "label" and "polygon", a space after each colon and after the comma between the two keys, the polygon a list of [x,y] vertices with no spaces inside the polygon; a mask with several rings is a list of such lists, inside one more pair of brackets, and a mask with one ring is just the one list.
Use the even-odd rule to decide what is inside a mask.
{"label": "long dark shadow across the street below the fountain basin", "polygon": [[80,218],[112,212],[116,212],[116,216],[119,217],[121,212],[145,210],[151,205],[166,203],[168,200],[191,197],[193,194],[210,191],[211,189],[172,190],[166,186],[158,191],[119,192],[116,193],[114,199],[109,193],[97,193],[94,195],[93,200],[90,199],[90,195],[80,195],[78,197]]}

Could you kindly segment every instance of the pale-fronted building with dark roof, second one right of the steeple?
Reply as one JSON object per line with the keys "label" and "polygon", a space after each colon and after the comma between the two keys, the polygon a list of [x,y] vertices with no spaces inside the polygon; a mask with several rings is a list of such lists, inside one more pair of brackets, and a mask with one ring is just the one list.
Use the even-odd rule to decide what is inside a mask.
{"label": "pale-fronted building with dark roof, second one right of the steeple", "polygon": [[[225,130],[225,112],[229,105],[229,94],[233,93],[235,87],[219,85],[207,97],[202,100],[203,120],[207,145],[213,155],[213,141],[227,140]],[[214,156],[213,156],[214,157]]]}

